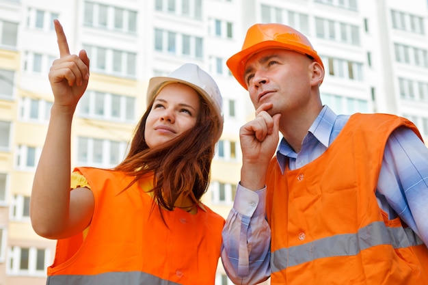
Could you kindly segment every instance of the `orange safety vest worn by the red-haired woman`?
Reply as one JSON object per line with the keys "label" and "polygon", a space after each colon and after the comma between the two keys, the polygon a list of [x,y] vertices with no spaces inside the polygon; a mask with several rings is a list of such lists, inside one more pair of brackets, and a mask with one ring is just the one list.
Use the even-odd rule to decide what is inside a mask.
{"label": "orange safety vest worn by the red-haired woman", "polygon": [[[152,198],[121,172],[77,168],[94,193],[90,230],[57,241],[49,285],[214,284],[224,218],[204,206],[191,215],[152,208]],[[151,180],[151,178],[148,178]]]}

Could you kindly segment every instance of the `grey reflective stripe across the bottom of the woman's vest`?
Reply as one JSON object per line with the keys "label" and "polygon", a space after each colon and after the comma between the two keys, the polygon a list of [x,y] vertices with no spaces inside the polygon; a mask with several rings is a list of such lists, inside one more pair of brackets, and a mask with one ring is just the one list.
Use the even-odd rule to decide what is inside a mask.
{"label": "grey reflective stripe across the bottom of the woman's vest", "polygon": [[163,280],[148,273],[109,272],[97,275],[53,275],[48,276],[46,285],[180,285],[175,282]]}

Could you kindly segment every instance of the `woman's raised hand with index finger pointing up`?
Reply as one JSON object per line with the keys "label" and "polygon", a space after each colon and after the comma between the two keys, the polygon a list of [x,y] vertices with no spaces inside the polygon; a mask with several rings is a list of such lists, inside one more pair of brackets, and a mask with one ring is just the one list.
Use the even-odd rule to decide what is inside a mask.
{"label": "woman's raised hand with index finger pointing up", "polygon": [[55,59],[49,71],[49,81],[55,105],[74,111],[89,81],[89,58],[86,51],[79,55],[70,55],[64,29],[54,20],[59,47],[59,59]]}

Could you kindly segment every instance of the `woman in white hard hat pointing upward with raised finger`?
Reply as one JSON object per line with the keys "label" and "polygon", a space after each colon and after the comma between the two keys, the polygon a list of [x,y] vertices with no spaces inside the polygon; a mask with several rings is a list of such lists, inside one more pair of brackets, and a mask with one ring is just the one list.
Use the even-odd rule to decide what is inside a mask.
{"label": "woman in white hard hat pointing upward with raised finger", "polygon": [[70,55],[58,21],[55,31],[55,101],[30,213],[40,236],[58,240],[47,283],[214,284],[224,219],[200,198],[222,133],[217,85],[194,64],[150,79],[148,109],[124,161],[70,175],[71,122],[89,59]]}

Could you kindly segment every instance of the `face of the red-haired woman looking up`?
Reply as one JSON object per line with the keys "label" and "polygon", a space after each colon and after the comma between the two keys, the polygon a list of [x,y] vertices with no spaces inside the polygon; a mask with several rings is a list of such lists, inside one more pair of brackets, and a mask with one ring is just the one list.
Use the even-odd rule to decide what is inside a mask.
{"label": "face of the red-haired woman looking up", "polygon": [[146,120],[144,137],[149,148],[178,137],[198,120],[200,96],[193,88],[170,83],[155,97]]}

